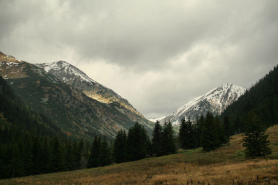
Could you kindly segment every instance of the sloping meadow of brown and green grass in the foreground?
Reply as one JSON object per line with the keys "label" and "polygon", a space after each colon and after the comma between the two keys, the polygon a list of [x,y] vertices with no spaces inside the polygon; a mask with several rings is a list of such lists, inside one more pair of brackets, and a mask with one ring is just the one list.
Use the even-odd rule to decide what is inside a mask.
{"label": "sloping meadow of brown and green grass in the foreground", "polygon": [[[267,130],[272,154],[265,158],[244,157],[242,135],[215,151],[201,148],[178,154],[147,158],[111,166],[0,180],[0,184],[99,184],[99,185],[278,185],[278,125]],[[257,183],[258,177],[258,183]]]}

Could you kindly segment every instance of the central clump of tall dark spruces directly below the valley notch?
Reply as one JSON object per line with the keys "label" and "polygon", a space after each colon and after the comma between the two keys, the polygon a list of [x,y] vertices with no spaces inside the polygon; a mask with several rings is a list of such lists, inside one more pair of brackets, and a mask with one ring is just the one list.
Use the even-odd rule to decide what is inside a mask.
{"label": "central clump of tall dark spruces directly below the valley notch", "polygon": [[176,153],[176,135],[171,122],[165,122],[161,126],[157,121],[152,135],[151,141],[147,131],[138,122],[127,134],[124,130],[119,130],[113,144],[114,161],[122,163]]}

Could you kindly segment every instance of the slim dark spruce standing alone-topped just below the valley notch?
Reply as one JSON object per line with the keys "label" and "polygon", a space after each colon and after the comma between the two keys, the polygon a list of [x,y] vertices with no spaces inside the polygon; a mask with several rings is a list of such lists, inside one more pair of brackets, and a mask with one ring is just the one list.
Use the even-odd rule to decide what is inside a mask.
{"label": "slim dark spruce standing alone-topped just below the valley notch", "polygon": [[157,120],[153,129],[153,139],[152,139],[152,153],[155,156],[162,155],[162,127],[160,122]]}

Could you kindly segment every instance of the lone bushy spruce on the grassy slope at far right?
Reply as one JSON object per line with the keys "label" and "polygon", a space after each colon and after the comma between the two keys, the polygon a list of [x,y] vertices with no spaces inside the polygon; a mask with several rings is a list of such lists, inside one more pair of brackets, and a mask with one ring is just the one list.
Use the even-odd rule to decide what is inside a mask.
{"label": "lone bushy spruce on the grassy slope at far right", "polygon": [[256,112],[254,110],[248,112],[243,138],[243,146],[246,147],[245,155],[254,158],[270,154],[270,142],[267,137],[261,119]]}

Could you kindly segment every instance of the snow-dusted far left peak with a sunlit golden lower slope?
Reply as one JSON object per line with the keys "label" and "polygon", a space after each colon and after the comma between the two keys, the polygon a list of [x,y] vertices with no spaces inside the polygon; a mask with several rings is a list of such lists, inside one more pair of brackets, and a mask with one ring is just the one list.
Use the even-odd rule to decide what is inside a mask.
{"label": "snow-dusted far left peak with a sunlit golden lower slope", "polygon": [[142,117],[142,119],[144,119],[144,116],[140,114],[136,109],[134,109],[133,106],[126,99],[122,98],[113,90],[104,87],[95,80],[92,80],[89,76],[87,76],[77,67],[65,61],[35,65],[42,68],[47,73],[59,78],[62,82],[65,82],[75,88],[78,88],[87,96],[95,100],[98,100],[106,104],[118,102],[121,106],[125,107],[129,111],[135,112],[137,115]]}

